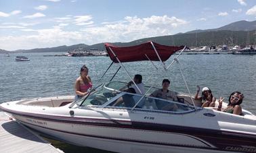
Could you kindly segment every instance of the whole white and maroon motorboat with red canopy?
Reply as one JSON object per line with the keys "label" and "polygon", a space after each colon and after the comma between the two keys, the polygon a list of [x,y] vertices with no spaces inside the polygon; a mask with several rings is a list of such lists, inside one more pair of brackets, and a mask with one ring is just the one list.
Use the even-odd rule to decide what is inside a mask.
{"label": "whole white and maroon motorboat with red canopy", "polygon": [[[153,42],[106,44],[110,59],[125,71],[122,62],[164,62],[182,48]],[[173,62],[179,63],[177,57]],[[242,110],[240,116],[202,109],[190,94],[177,93],[178,101],[154,98],[148,96],[154,85],[146,87],[146,94],[131,94],[120,90],[127,83],[111,80],[74,102],[74,96],[35,98],[5,102],[0,109],[58,140],[113,152],[256,152],[256,117],[249,111]],[[177,108],[164,111],[159,104]]]}

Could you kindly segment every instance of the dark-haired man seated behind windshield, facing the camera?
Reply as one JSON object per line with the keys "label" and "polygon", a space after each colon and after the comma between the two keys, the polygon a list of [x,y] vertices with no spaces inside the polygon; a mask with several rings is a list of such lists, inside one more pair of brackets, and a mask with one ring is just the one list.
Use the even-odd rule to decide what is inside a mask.
{"label": "dark-haired man seated behind windshield, facing the camera", "polygon": [[[173,100],[177,101],[177,96],[176,93],[173,91],[168,90],[170,86],[170,81],[168,79],[164,79],[162,83],[162,89],[154,91],[150,96],[154,96],[156,98],[162,98],[165,100]],[[164,100],[158,100],[156,102],[156,106],[159,110],[164,110],[164,111],[175,111],[177,110],[177,105],[164,101]]]}

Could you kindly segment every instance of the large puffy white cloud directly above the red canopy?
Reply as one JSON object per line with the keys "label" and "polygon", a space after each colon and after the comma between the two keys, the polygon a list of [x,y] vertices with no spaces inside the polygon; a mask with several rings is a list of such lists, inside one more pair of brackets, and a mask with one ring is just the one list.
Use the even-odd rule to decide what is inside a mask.
{"label": "large puffy white cloud directly above the red canopy", "polygon": [[95,42],[127,42],[139,38],[172,34],[175,28],[186,24],[188,22],[176,17],[137,18],[137,16],[127,16],[119,22],[104,22],[101,27],[87,27],[81,31],[85,32],[85,39],[87,43],[91,44]]}

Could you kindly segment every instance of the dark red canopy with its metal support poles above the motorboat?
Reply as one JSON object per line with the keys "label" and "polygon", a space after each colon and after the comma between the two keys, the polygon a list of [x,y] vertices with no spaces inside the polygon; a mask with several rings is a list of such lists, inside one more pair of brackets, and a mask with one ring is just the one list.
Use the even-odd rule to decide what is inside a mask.
{"label": "dark red canopy with its metal support poles above the motorboat", "polygon": [[[179,57],[179,55],[181,55],[181,53],[186,49],[186,47],[184,47],[184,46],[180,46],[180,47],[165,46],[162,44],[157,44],[152,41],[146,42],[143,44],[139,44],[137,46],[132,46],[132,47],[116,47],[112,44],[106,43],[105,47],[106,47],[106,51],[108,52],[110,59],[112,60],[112,63],[110,64],[108,69],[112,66],[113,63],[119,63],[119,65],[120,65],[119,69],[122,67],[125,70],[125,73],[127,73],[127,75],[129,76],[129,79],[131,80],[131,82],[133,82],[133,84],[139,91],[140,91],[140,88],[138,88],[138,86],[133,81],[133,78],[131,78],[131,75],[129,74],[129,72],[127,71],[125,66],[123,65],[123,62],[151,61],[151,63],[152,63],[152,61],[160,61],[161,65],[163,66],[165,71],[167,71],[167,69],[169,69],[169,67],[175,61],[176,61],[176,63],[179,64],[179,61],[177,61],[177,57]],[[165,61],[167,61],[167,59],[169,59],[169,57],[171,57],[171,55],[173,55],[176,51],[179,51],[179,50],[182,50],[182,51],[179,53],[179,55],[177,55],[177,57],[174,58],[174,60],[171,62],[171,64],[166,67]],[[154,63],[152,63],[152,64],[154,65]],[[156,67],[156,66],[154,65],[154,67]],[[104,75],[106,74],[108,69],[105,71]],[[116,73],[119,71],[119,69],[116,71]],[[156,67],[156,69],[158,69],[158,67]],[[182,69],[181,69],[180,65],[179,65],[179,71],[182,73]],[[114,75],[116,75],[116,73],[114,73]],[[104,75],[102,75],[100,80],[104,77]],[[150,78],[151,78],[151,76],[150,76]],[[114,76],[112,78],[114,78]],[[186,80],[184,78],[183,73],[182,73],[182,78],[184,79],[186,88],[188,90],[188,85],[186,84]],[[100,82],[100,80],[98,80],[98,82]],[[150,86],[150,88],[146,91],[146,93],[142,96],[142,98],[140,98],[140,100],[142,100],[144,98],[144,96],[146,96],[146,94],[148,94],[150,89],[155,84],[156,84],[156,82],[152,86]],[[189,90],[188,90],[188,92],[190,94]],[[142,94],[141,91],[140,91],[140,93]],[[194,104],[192,97],[190,97],[190,98]],[[140,102],[140,100],[135,104],[135,106],[137,106],[137,104]],[[133,106],[133,109],[135,108],[135,106]],[[131,111],[133,111],[133,109],[131,109]],[[195,104],[194,104],[194,109],[196,110]]]}

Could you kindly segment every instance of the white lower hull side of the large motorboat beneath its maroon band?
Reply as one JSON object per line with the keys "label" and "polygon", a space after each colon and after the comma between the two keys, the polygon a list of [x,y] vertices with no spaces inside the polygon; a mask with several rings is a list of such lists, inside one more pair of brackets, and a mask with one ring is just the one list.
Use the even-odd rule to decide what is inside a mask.
{"label": "white lower hull side of the large motorboat beneath its maroon band", "polygon": [[[20,123],[51,135],[51,137],[58,140],[77,146],[89,146],[112,152],[225,152],[203,142],[198,137],[182,133],[147,131],[145,129],[121,129],[95,125],[68,125],[14,116]],[[55,127],[58,127],[58,129]],[[71,130],[66,130],[67,128]],[[129,133],[129,136],[124,136],[123,134],[125,133]]]}

